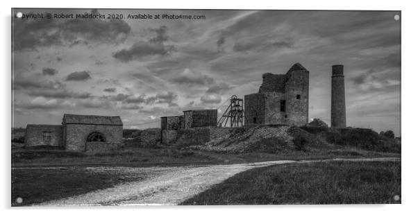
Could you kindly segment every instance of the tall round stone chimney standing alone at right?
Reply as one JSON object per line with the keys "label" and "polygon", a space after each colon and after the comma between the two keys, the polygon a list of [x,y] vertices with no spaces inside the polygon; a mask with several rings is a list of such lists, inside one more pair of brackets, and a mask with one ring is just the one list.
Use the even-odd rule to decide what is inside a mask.
{"label": "tall round stone chimney standing alone at right", "polygon": [[333,65],[333,75],[331,76],[331,127],[346,127],[343,65]]}

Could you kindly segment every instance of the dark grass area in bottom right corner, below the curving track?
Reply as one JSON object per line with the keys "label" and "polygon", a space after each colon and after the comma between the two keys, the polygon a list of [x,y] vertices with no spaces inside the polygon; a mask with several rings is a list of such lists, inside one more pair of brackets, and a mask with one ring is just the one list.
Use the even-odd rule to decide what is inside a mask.
{"label": "dark grass area in bottom right corner, below the curving track", "polygon": [[182,205],[383,204],[400,197],[401,162],[315,162],[238,173]]}

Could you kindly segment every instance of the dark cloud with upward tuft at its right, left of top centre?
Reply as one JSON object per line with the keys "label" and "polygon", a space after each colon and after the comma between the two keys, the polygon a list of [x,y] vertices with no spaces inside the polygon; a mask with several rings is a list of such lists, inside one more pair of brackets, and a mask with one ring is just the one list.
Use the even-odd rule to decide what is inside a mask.
{"label": "dark cloud with upward tuft at its right, left of top centre", "polygon": [[168,40],[167,27],[161,26],[160,28],[150,28],[149,31],[156,35],[151,37],[148,42],[136,42],[128,49],[122,49],[113,53],[113,58],[121,60],[122,62],[128,62],[153,56],[169,55],[173,51],[176,51],[174,46],[164,44],[164,42]]}

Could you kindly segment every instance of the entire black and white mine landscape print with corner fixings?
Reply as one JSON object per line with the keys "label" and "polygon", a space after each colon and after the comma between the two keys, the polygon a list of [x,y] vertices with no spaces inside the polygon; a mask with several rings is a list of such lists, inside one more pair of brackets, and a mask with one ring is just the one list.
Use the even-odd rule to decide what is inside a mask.
{"label": "entire black and white mine landscape print with corner fixings", "polygon": [[11,8],[8,204],[401,204],[401,20]]}

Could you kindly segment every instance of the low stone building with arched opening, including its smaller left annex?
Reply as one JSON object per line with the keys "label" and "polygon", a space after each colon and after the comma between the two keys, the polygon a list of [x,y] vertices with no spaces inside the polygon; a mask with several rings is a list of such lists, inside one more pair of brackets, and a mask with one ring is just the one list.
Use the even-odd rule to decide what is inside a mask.
{"label": "low stone building with arched opening, including its smaller left annex", "polygon": [[117,148],[122,144],[120,117],[64,114],[61,125],[26,126],[26,146],[59,146],[89,151]]}

